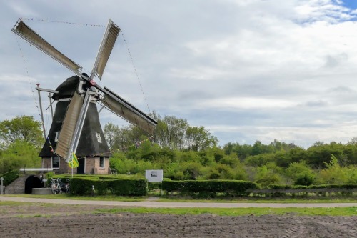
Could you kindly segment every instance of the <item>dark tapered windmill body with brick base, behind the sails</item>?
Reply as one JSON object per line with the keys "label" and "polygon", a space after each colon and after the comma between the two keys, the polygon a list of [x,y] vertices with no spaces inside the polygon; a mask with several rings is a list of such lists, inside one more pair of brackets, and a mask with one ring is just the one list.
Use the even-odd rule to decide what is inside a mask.
{"label": "dark tapered windmill body with brick base, behind the sails", "polygon": [[[58,94],[52,95],[52,99],[57,101],[56,110],[48,138],[41,149],[39,157],[43,159],[44,167],[53,168],[58,173],[71,172],[68,164],[54,154],[54,151],[56,151],[71,98],[76,91],[84,91],[85,84],[83,86],[80,82],[84,81],[79,76],[72,76],[56,88],[56,91],[59,92]],[[110,171],[109,158],[111,157],[111,152],[101,128],[96,100],[91,101],[89,104],[81,137],[79,137],[76,156],[79,158],[79,167],[76,168],[76,173],[78,174],[107,174]]]}

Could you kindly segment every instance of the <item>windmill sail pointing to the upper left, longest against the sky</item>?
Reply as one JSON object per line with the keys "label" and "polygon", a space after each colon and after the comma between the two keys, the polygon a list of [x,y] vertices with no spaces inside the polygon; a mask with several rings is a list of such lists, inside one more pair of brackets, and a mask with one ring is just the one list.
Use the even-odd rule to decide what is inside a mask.
{"label": "windmill sail pointing to the upper left, longest against the sky", "polygon": [[33,46],[36,46],[37,49],[43,51],[52,59],[55,59],[60,64],[66,66],[66,68],[70,69],[71,71],[74,71],[76,75],[81,76],[82,67],[79,64],[76,64],[74,61],[72,61],[67,56],[58,51],[56,48],[54,48],[54,46],[51,46],[49,42],[45,41],[41,36],[39,36],[39,34],[37,34],[29,26],[27,26],[21,19],[16,22],[16,25],[13,29],[11,29],[11,31],[28,41]]}

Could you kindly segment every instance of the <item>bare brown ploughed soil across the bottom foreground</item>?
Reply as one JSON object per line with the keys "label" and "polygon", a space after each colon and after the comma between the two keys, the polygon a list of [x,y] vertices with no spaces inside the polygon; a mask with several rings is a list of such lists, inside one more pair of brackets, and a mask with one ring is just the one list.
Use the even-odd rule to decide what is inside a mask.
{"label": "bare brown ploughed soil across the bottom foreground", "polygon": [[89,205],[0,206],[0,237],[357,237],[357,217],[93,212]]}

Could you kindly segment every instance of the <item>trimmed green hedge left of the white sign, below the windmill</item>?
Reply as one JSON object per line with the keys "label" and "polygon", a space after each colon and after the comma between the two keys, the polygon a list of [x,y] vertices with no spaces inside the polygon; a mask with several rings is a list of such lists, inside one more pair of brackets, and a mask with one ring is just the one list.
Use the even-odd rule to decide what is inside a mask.
{"label": "trimmed green hedge left of the white sign, below the windmill", "polygon": [[145,196],[148,193],[148,182],[146,179],[71,178],[71,194],[104,195],[108,192],[121,196]]}

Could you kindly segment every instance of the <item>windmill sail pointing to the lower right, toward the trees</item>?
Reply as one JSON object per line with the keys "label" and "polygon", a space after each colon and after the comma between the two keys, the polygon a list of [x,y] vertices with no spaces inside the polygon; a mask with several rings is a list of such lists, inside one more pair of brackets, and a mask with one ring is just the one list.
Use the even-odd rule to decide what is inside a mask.
{"label": "windmill sail pointing to the lower right, toward the trees", "polygon": [[[99,88],[99,86],[96,87]],[[140,111],[106,87],[104,87],[104,89],[99,88],[99,90],[104,93],[104,97],[99,101],[99,104],[106,107],[106,109],[109,109],[109,111],[114,112],[114,114],[128,120],[131,124],[143,129],[145,132],[148,132],[149,134],[154,133],[157,124],[156,120],[152,119],[143,111]]]}

